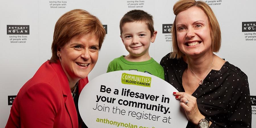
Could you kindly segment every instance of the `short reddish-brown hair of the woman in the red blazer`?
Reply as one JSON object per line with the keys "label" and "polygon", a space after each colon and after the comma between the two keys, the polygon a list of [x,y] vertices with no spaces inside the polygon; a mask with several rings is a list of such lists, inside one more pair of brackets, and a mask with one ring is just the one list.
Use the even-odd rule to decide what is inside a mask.
{"label": "short reddish-brown hair of the woman in the red blazer", "polygon": [[51,63],[56,63],[58,48],[62,48],[69,40],[77,35],[96,35],[99,39],[99,49],[102,46],[106,31],[100,20],[82,9],[74,9],[63,14],[55,24],[53,42],[51,45]]}

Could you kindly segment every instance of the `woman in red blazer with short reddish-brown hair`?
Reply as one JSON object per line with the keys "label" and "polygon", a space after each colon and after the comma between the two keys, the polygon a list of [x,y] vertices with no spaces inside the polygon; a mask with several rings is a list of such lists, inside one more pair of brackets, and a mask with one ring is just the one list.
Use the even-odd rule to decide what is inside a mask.
{"label": "woman in red blazer with short reddish-brown hair", "polygon": [[75,9],[55,24],[51,60],[20,89],[6,128],[86,127],[78,97],[98,59],[106,32],[99,19]]}

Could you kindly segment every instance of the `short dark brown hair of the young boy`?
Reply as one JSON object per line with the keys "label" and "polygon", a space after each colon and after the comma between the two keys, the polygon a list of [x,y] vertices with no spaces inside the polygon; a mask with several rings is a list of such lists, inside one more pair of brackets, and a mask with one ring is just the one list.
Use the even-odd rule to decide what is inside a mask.
{"label": "short dark brown hair of the young boy", "polygon": [[148,26],[148,29],[150,30],[151,36],[153,36],[154,33],[154,21],[153,16],[148,14],[147,12],[143,10],[131,10],[127,12],[123,18],[120,20],[120,34],[122,35],[123,30],[122,27],[127,22],[145,22]]}

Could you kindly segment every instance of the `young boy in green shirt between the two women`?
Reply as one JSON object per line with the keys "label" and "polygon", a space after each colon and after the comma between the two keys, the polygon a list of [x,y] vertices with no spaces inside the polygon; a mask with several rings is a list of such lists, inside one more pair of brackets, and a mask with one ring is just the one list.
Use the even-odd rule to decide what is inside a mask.
{"label": "young boy in green shirt between the two women", "polygon": [[164,69],[149,56],[150,42],[156,39],[152,15],[142,10],[127,12],[120,21],[120,37],[129,52],[115,58],[108,65],[108,72],[119,70],[135,70],[164,79]]}

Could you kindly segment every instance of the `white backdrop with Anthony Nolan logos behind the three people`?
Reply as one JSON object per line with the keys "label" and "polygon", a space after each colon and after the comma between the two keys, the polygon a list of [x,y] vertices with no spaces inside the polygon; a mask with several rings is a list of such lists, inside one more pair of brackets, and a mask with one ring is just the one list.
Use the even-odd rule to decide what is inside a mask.
{"label": "white backdrop with Anthony Nolan logos behind the three people", "polygon": [[[72,9],[84,9],[107,25],[107,35],[99,53],[96,66],[89,80],[106,73],[108,63],[121,55],[127,55],[119,37],[119,21],[129,10],[142,9],[154,17],[158,31],[155,43],[150,46],[150,56],[160,61],[171,51],[170,34],[163,33],[174,20],[172,7],[177,0],[0,0],[0,127],[9,117],[11,103],[21,86],[51,57],[51,42],[57,19]],[[213,9],[222,32],[222,46],[218,56],[244,71],[249,80],[252,110],[256,111],[256,11],[255,0],[205,1]],[[131,5],[136,4],[136,5]],[[242,22],[248,22],[242,24]],[[29,29],[15,30],[8,25],[29,25]],[[246,30],[244,30],[244,27]],[[165,28],[166,29],[166,28]],[[250,29],[250,30],[248,30]],[[9,32],[11,30],[11,32]],[[21,33],[21,30],[23,33]],[[166,29],[168,30],[168,29]],[[19,33],[17,33],[17,31]],[[245,31],[245,32],[243,32]],[[250,32],[248,32],[250,31]],[[247,37],[246,37],[247,36]],[[248,40],[249,39],[249,40]],[[13,43],[13,41],[17,43]],[[19,43],[22,41],[22,43]],[[8,101],[8,102],[7,102]],[[252,112],[252,127],[256,127],[256,112]]]}

